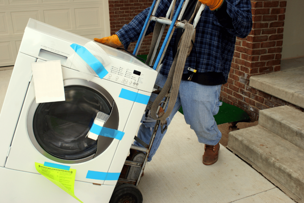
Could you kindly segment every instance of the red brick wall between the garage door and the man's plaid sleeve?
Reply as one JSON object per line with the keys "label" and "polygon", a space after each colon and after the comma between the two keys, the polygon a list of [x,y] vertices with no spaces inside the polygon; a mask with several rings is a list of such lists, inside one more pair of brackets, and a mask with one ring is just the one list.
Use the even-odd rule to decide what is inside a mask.
{"label": "red brick wall between the garage door and the man's plaid sleeve", "polygon": [[[115,34],[124,24],[130,23],[134,16],[152,5],[152,2],[153,0],[109,0],[111,35]],[[144,38],[138,55],[149,53],[151,40],[152,33]],[[136,42],[131,43],[128,50],[133,52],[135,45]]]}

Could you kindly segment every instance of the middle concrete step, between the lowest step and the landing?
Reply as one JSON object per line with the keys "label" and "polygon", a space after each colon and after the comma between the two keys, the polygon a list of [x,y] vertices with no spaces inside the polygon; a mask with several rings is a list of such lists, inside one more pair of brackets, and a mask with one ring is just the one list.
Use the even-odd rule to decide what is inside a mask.
{"label": "middle concrete step, between the lowest step and the landing", "polygon": [[259,112],[259,125],[304,149],[304,113],[289,106]]}

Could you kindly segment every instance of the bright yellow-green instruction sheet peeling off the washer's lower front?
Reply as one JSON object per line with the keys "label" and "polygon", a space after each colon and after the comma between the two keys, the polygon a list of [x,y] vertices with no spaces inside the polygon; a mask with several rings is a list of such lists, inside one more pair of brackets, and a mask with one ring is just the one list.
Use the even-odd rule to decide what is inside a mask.
{"label": "bright yellow-green instruction sheet peeling off the washer's lower front", "polygon": [[70,170],[63,170],[53,167],[44,166],[41,163],[35,162],[36,170],[52,181],[55,185],[60,187],[62,190],[70,194],[72,197],[83,203],[80,199],[78,199],[74,195],[74,183],[75,183],[75,176],[76,176],[76,169]]}

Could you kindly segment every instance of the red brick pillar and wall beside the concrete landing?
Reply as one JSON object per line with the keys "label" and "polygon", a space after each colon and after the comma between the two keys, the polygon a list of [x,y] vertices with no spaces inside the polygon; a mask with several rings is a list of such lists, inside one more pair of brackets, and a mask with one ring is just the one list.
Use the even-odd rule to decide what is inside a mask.
{"label": "red brick pillar and wall beside the concrete landing", "polygon": [[255,0],[251,6],[253,27],[246,38],[237,37],[229,79],[222,86],[220,100],[258,120],[259,110],[294,105],[249,86],[250,76],[280,70],[286,1]]}

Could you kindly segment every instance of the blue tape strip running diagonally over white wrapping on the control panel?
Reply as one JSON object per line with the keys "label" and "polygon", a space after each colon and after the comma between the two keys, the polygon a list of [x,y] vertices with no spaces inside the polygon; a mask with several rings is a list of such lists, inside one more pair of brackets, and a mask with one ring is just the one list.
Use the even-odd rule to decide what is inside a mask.
{"label": "blue tape strip running diagonally over white wrapping on the control panel", "polygon": [[91,66],[100,78],[104,78],[109,73],[100,61],[98,61],[85,47],[78,44],[71,44],[70,46],[89,66]]}

